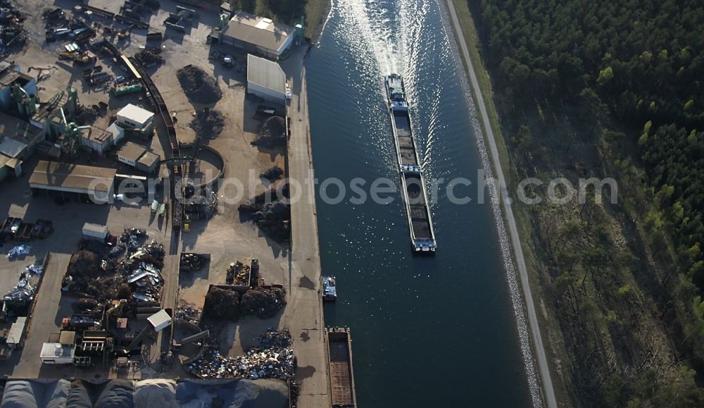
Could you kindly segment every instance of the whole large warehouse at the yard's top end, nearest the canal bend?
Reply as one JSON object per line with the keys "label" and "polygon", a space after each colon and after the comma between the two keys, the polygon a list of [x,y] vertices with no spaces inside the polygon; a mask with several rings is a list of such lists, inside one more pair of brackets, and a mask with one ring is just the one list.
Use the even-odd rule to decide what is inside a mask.
{"label": "whole large warehouse at the yard's top end, nearest the canal bend", "polygon": [[293,27],[240,11],[220,30],[219,41],[271,59],[279,59],[294,42]]}

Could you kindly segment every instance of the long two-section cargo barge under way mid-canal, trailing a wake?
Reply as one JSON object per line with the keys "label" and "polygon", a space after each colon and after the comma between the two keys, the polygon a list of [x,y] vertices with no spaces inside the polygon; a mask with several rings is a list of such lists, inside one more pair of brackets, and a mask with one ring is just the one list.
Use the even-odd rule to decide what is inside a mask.
{"label": "long two-section cargo barge under way mid-canal, trailing a wake", "polygon": [[434,254],[435,232],[428,206],[425,180],[422,177],[415,137],[410,125],[406,89],[401,75],[386,77],[386,95],[389,99],[389,116],[394,130],[394,143],[401,175],[403,199],[410,228],[410,242],[414,252]]}

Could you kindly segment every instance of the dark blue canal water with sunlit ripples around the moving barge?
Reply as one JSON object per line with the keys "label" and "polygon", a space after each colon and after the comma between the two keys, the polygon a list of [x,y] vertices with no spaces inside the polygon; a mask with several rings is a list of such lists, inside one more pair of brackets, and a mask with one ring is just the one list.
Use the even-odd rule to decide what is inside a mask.
{"label": "dark blue canal water with sunlit ripples around the moving barge", "polygon": [[[306,62],[315,176],[337,178],[344,199],[317,196],[322,273],[337,276],[329,326],[352,331],[360,407],[529,406],[496,225],[467,103],[437,0],[333,0]],[[427,185],[444,178],[431,205],[438,250],[414,256],[383,76],[406,80]],[[446,186],[453,178],[453,204]],[[386,204],[359,197],[388,178]],[[360,185],[360,180],[356,180]],[[318,192],[337,198],[337,182]],[[482,196],[483,197],[480,197]]]}

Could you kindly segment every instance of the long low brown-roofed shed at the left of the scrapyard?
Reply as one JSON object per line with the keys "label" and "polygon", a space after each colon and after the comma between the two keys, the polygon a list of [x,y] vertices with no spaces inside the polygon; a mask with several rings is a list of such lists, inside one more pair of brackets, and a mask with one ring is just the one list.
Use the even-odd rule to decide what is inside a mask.
{"label": "long low brown-roofed shed at the left of the scrapyard", "polygon": [[108,202],[115,191],[115,171],[112,168],[39,161],[30,176],[32,192],[46,190],[79,194],[96,203]]}

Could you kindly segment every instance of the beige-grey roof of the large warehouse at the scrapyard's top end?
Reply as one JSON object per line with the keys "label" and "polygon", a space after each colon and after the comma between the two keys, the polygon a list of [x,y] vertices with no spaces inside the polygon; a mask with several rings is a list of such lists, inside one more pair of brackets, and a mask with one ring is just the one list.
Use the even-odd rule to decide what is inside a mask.
{"label": "beige-grey roof of the large warehouse at the scrapyard's top end", "polygon": [[[269,19],[240,11],[232,17],[230,23],[227,23],[223,35],[271,51],[279,51],[289,36],[294,34],[294,29],[284,24],[264,23],[265,20]],[[263,28],[258,28],[257,25]]]}

